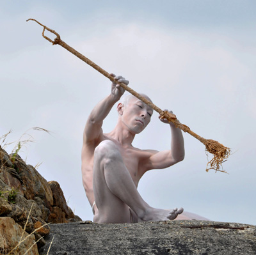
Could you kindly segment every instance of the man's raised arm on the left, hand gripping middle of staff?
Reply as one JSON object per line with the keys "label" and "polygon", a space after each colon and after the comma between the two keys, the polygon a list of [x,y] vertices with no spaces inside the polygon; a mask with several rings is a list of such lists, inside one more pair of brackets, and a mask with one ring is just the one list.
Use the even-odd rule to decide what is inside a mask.
{"label": "man's raised arm on the left, hand gripping middle of staff", "polygon": [[[125,84],[129,84],[129,81],[125,80],[122,76],[115,76],[111,73],[113,77],[115,77],[116,81],[124,82]],[[97,104],[88,120],[86,121],[86,125],[84,128],[84,143],[93,143],[95,140],[100,139],[102,135],[102,123],[103,120],[108,116],[113,105],[120,100],[120,97],[124,94],[124,89],[120,87],[120,85],[112,83],[111,93],[108,97],[104,98],[102,101]]]}

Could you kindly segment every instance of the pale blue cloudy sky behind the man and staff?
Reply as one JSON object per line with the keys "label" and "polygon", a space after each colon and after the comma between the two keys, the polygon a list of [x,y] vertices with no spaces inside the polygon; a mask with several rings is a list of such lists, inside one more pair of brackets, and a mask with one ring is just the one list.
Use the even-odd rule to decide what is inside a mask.
{"label": "pale blue cloudy sky behind the man and staff", "polygon": [[[256,225],[255,11],[253,0],[1,1],[0,136],[12,130],[10,143],[31,135],[35,143],[20,156],[33,166],[42,162],[39,173],[60,183],[68,206],[93,219],[81,180],[83,128],[111,82],[47,42],[42,27],[26,22],[36,19],[196,134],[231,148],[228,173],[207,173],[204,144],[184,133],[184,160],[141,178],[138,190],[150,206]],[[133,146],[170,148],[170,128],[157,117]],[[116,119],[114,106],[104,132]]]}

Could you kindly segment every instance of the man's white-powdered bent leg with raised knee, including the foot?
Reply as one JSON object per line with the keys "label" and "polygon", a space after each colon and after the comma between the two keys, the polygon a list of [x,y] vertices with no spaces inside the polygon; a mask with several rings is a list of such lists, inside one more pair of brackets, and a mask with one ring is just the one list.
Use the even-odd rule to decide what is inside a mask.
{"label": "man's white-powdered bent leg with raised knee, including the foot", "polygon": [[140,196],[118,147],[106,140],[97,146],[93,165],[93,192],[99,213],[95,222],[130,222],[129,207],[141,220],[175,219],[180,210],[149,206]]}

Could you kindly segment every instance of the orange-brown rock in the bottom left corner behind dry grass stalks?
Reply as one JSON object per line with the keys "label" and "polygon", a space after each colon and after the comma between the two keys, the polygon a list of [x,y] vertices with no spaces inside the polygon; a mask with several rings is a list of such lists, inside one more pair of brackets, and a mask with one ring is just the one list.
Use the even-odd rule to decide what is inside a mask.
{"label": "orange-brown rock in the bottom left corner behind dry grass stalks", "polygon": [[25,254],[31,248],[26,254],[37,255],[38,249],[35,244],[35,236],[29,236],[12,218],[0,217],[0,249],[2,254],[11,252],[19,243],[21,236],[24,242],[20,243],[15,252],[17,254]]}

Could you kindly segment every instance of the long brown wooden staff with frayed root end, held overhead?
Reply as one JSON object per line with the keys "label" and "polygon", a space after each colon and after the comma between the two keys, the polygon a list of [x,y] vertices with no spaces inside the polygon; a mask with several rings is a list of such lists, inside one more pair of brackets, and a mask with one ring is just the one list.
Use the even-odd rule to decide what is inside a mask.
{"label": "long brown wooden staff with frayed root end, held overhead", "polygon": [[[211,139],[204,139],[203,137],[200,137],[200,135],[196,134],[195,132],[193,132],[192,130],[190,130],[190,128],[182,123],[180,123],[179,120],[177,120],[175,114],[172,114],[168,111],[163,111],[161,110],[159,107],[157,107],[155,104],[153,104],[152,102],[150,102],[149,100],[147,100],[147,98],[142,97],[139,93],[137,93],[136,91],[134,91],[133,89],[131,89],[130,87],[128,87],[126,84],[124,84],[123,82],[118,82],[114,79],[113,76],[111,76],[108,72],[106,72],[105,70],[103,70],[102,68],[100,68],[100,66],[96,65],[95,63],[93,63],[92,60],[86,58],[85,56],[83,56],[83,54],[81,54],[80,52],[78,52],[77,50],[73,49],[72,47],[70,47],[69,45],[67,45],[67,43],[63,42],[60,38],[60,35],[58,33],[56,33],[56,31],[44,26],[43,24],[41,24],[40,22],[38,22],[35,19],[28,19],[29,20],[34,20],[36,23],[38,23],[40,26],[44,27],[42,36],[48,40],[49,42],[52,43],[52,45],[58,44],[61,45],[63,48],[65,48],[66,50],[68,50],[69,52],[71,52],[72,54],[74,54],[75,56],[77,56],[77,58],[83,60],[86,64],[92,66],[95,70],[97,70],[98,72],[102,73],[104,76],[106,76],[110,81],[115,82],[117,84],[119,84],[122,88],[124,88],[125,90],[127,90],[129,93],[131,93],[132,95],[134,95],[134,97],[140,99],[142,102],[144,102],[145,104],[147,104],[148,106],[150,106],[152,109],[154,109],[155,111],[157,111],[160,114],[160,118],[162,119],[166,119],[169,122],[172,122],[175,127],[180,128],[181,130],[183,130],[184,132],[188,132],[190,135],[192,135],[193,137],[195,137],[196,139],[198,139],[201,143],[203,143],[205,145],[205,151],[209,152],[213,155],[212,160],[210,160],[207,163],[207,167],[206,167],[206,171],[208,172],[209,169],[214,169],[216,172],[220,171],[220,172],[224,172],[227,173],[225,170],[223,170],[222,168],[220,169],[220,166],[222,167],[222,163],[227,161],[228,156],[230,155],[230,148],[227,148],[225,146],[223,146],[223,144],[218,143],[217,141],[211,140]],[[56,38],[52,41],[49,37],[44,35],[45,29],[51,33],[53,33],[54,35],[56,35]]]}

